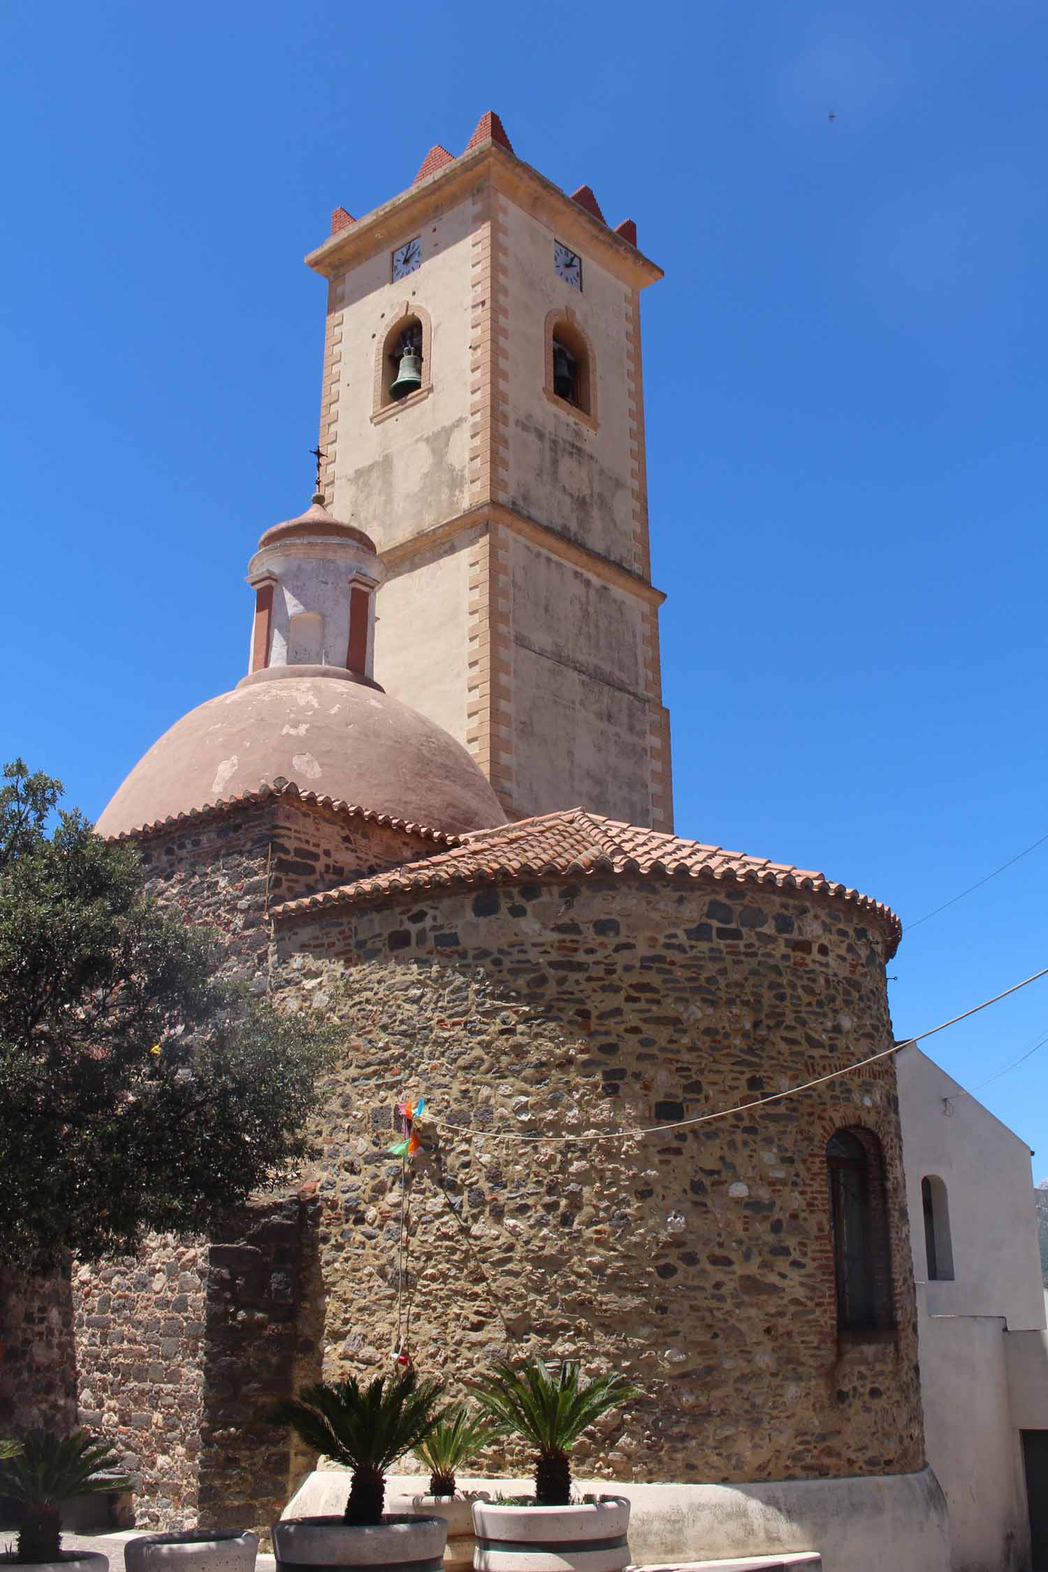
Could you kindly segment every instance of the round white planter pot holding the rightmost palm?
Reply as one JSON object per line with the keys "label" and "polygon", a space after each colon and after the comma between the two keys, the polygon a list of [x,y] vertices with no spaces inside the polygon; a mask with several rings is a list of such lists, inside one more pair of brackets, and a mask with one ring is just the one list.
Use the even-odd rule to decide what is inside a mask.
{"label": "round white planter pot holding the rightmost palm", "polygon": [[584,1506],[473,1503],[478,1572],[622,1572],[630,1503],[602,1495]]}

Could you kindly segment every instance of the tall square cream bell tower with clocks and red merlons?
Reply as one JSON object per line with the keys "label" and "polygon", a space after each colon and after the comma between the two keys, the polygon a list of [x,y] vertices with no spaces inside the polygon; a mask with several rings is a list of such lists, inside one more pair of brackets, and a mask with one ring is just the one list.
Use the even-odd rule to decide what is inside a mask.
{"label": "tall square cream bell tower with clocks and red merlons", "polygon": [[376,674],[504,810],[672,828],[639,291],[661,270],[523,163],[497,115],[363,219],[336,208],[327,506],[376,542]]}

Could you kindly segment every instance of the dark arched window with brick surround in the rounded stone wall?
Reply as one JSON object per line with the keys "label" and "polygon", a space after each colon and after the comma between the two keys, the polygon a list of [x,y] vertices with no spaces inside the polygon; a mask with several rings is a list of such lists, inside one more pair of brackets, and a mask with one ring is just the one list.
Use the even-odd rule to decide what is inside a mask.
{"label": "dark arched window with brick surround in the rounded stone wall", "polygon": [[892,1325],[885,1163],[872,1130],[834,1130],[826,1143],[837,1330]]}

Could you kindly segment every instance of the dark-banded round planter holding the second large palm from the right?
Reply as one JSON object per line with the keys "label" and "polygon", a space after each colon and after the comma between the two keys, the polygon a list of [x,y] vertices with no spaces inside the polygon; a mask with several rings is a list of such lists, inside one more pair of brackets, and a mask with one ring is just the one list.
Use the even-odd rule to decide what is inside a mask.
{"label": "dark-banded round planter holding the second large palm from the right", "polygon": [[344,1517],[286,1517],[273,1523],[277,1572],[443,1572],[443,1517],[383,1517],[357,1528]]}

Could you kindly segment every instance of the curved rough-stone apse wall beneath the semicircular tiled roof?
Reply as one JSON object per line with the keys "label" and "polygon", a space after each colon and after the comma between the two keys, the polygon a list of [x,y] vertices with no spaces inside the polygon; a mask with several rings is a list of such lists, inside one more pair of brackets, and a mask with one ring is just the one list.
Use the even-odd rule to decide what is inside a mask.
{"label": "curved rough-stone apse wall beneath the semicircular tiled roof", "polygon": [[[495,1353],[641,1388],[580,1468],[782,1479],[921,1467],[885,938],[847,902],[599,879],[277,918],[277,987],[346,1027],[316,1165],[324,1369],[409,1339],[459,1387]],[[432,1118],[398,1261],[402,1093]],[[880,1138],[896,1328],[839,1335],[825,1146]],[[555,1141],[522,1137],[539,1132]],[[603,1140],[603,1137],[613,1137]],[[402,1286],[404,1292],[399,1294]],[[508,1462],[520,1454],[508,1449]]]}

